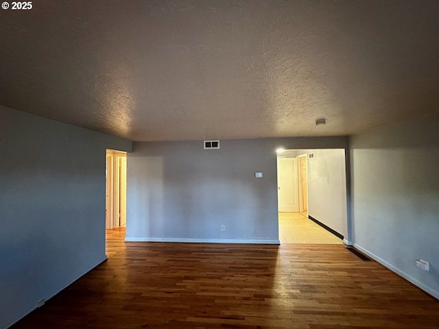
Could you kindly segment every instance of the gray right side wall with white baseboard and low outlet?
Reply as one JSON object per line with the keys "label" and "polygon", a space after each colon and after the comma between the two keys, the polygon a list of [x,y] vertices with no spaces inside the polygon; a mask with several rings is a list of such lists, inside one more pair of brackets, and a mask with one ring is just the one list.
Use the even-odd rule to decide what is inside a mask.
{"label": "gray right side wall with white baseboard and low outlet", "polygon": [[439,298],[439,114],[353,136],[350,145],[355,245]]}

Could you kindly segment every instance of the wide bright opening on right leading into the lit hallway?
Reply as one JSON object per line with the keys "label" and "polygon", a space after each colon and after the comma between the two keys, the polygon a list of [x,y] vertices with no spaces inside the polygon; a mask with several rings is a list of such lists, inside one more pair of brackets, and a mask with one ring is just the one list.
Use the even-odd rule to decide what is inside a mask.
{"label": "wide bright opening on right leading into the lit hallway", "polygon": [[277,180],[281,243],[343,243],[344,149],[279,149]]}

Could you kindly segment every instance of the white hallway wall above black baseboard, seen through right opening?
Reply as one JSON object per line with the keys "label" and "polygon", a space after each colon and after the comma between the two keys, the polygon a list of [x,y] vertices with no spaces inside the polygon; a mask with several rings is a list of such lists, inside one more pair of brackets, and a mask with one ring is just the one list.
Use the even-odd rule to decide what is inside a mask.
{"label": "white hallway wall above black baseboard, seen through right opening", "polygon": [[346,164],[344,149],[311,149],[308,158],[308,215],[346,239]]}

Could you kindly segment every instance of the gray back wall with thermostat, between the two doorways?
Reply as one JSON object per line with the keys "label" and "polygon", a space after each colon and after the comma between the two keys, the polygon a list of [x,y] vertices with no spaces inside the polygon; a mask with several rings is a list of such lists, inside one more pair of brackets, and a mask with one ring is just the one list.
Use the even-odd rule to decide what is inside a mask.
{"label": "gray back wall with thermostat, between the two doorways", "polygon": [[278,147],[344,148],[347,138],[224,140],[208,150],[202,141],[133,143],[127,240],[278,242]]}

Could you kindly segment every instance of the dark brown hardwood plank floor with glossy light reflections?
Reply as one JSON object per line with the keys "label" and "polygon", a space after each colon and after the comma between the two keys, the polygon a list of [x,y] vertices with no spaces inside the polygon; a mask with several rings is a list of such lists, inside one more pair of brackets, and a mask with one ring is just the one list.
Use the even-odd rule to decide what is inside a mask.
{"label": "dark brown hardwood plank floor with glossy light reflections", "polygon": [[123,242],[19,328],[439,328],[439,302],[343,245]]}

